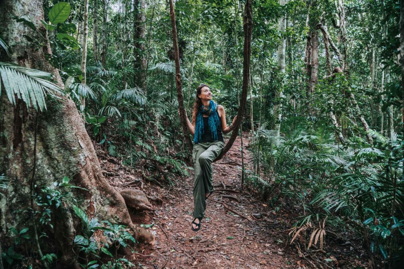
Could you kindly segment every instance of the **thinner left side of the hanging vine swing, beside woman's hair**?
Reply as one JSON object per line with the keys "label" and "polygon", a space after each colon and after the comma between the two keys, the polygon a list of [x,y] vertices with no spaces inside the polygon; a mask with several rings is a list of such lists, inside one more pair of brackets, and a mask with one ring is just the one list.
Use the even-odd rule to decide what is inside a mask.
{"label": "thinner left side of the hanging vine swing, beside woman's hair", "polygon": [[174,4],[173,0],[169,0],[170,4],[170,18],[171,18],[171,25],[173,26],[173,48],[174,48],[174,61],[175,61],[175,84],[177,85],[177,98],[178,98],[178,105],[180,111],[180,118],[181,118],[181,125],[182,131],[185,136],[185,140],[188,145],[189,151],[192,150],[192,142],[191,138],[189,137],[187,123],[185,121],[185,113],[184,113],[184,94],[182,92],[182,79],[181,79],[181,69],[179,66],[179,49],[178,49],[178,41],[177,41],[177,25],[175,22],[175,11],[174,11]]}

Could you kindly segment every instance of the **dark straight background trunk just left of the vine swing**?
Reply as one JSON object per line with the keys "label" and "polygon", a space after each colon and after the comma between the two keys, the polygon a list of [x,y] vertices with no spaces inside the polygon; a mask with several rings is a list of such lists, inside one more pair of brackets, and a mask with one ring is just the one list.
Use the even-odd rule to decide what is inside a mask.
{"label": "dark straight background trunk just left of the vine swing", "polygon": [[146,57],[145,57],[145,33],[146,33],[146,2],[135,0],[135,34],[133,35],[133,46],[135,52],[135,86],[145,89],[146,85]]}

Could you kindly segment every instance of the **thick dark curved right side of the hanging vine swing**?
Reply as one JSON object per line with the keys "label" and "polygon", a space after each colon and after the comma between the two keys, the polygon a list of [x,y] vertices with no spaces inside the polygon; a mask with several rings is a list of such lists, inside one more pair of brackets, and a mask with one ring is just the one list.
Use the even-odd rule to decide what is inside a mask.
{"label": "thick dark curved right side of the hanging vine swing", "polygon": [[[172,0],[170,0],[172,1]],[[240,106],[238,107],[237,119],[234,124],[234,129],[227,144],[223,148],[219,157],[215,161],[220,160],[227,151],[231,148],[238,135],[238,129],[243,120],[244,110],[246,108],[247,93],[248,93],[248,77],[250,77],[250,56],[251,56],[251,35],[252,35],[252,7],[251,0],[246,0],[244,6],[243,16],[243,29],[244,29],[244,48],[243,48],[243,88],[241,93]]]}

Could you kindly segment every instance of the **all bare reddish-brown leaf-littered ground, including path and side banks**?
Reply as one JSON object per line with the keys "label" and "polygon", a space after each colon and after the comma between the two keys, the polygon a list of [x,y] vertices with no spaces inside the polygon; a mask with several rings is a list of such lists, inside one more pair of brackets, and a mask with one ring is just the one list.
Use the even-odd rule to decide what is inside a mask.
{"label": "all bare reddish-brown leaf-littered ground, including path and side banks", "polygon": [[[243,141],[248,141],[247,134]],[[126,256],[127,259],[137,267],[155,269],[369,268],[366,252],[361,247],[362,239],[353,238],[354,234],[349,232],[344,232],[343,236],[328,233],[325,251],[319,251],[315,246],[310,252],[305,251],[307,238],[303,237],[295,240],[293,246],[287,244],[288,229],[302,214],[301,204],[296,204],[295,200],[278,197],[279,206],[270,206],[246,191],[218,192],[223,189],[221,181],[226,189],[240,190],[240,142],[238,138],[225,157],[213,164],[215,192],[207,200],[205,218],[197,232],[191,230],[194,208],[192,171],[189,177],[176,177],[173,188],[160,188],[147,181],[143,181],[142,185],[130,185],[134,179],[141,178],[141,173],[150,163],[145,162],[140,164],[142,167],[130,170],[106,152],[98,150],[97,154],[104,157],[101,160],[104,174],[117,190],[141,189],[143,186],[147,196],[158,197],[151,200],[154,212],[129,211],[133,223],[154,224],[148,230],[156,236],[156,241],[151,247],[140,245],[137,253]],[[244,154],[249,165],[251,157],[247,150]],[[164,170],[164,165],[159,169]],[[267,216],[255,219],[251,216],[254,213],[266,213]],[[303,254],[296,249],[296,244],[300,245]]]}

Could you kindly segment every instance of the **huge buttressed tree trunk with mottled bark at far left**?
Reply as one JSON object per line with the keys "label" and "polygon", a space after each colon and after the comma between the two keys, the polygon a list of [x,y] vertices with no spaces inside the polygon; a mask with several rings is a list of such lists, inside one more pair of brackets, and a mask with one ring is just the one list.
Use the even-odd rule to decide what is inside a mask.
{"label": "huge buttressed tree trunk with mottled bark at far left", "polygon": [[[34,23],[38,31],[17,23],[12,19],[13,16],[24,16]],[[8,44],[13,44],[13,54],[9,58],[2,55],[0,60],[52,72],[55,81],[63,86],[58,70],[45,60],[45,54],[52,52],[47,40],[42,39],[42,36],[46,36],[46,30],[41,19],[44,19],[42,0],[4,1],[0,12],[0,35]],[[42,40],[44,44],[48,44],[47,48],[38,49],[34,44],[21,42],[24,35]],[[79,206],[86,211],[89,218],[119,221],[135,229],[124,199],[102,174],[76,105],[69,98],[59,97],[61,100],[48,99],[48,110],[37,113],[33,108],[27,109],[21,100],[13,106],[6,94],[0,96],[0,171],[10,179],[5,195],[7,201],[13,201],[0,202],[3,248],[13,240],[10,236],[11,227],[35,227],[32,215],[21,213],[27,207],[32,207],[31,192],[53,186],[53,182],[61,182],[65,176],[71,179],[71,184],[88,190],[74,191],[74,195],[78,201],[82,201]],[[55,240],[39,238],[39,243],[44,252],[57,252],[55,249],[60,249],[61,266],[78,268],[72,247],[76,230],[80,230],[82,224],[73,221],[69,206],[62,205],[53,213],[57,224],[54,225]],[[35,207],[34,210],[38,208]],[[38,233],[43,228],[38,226]],[[34,229],[29,229],[29,233],[32,231]],[[32,238],[34,236],[32,234]],[[150,234],[142,232],[142,236],[144,240],[153,242]],[[33,247],[34,251],[39,252]]]}

